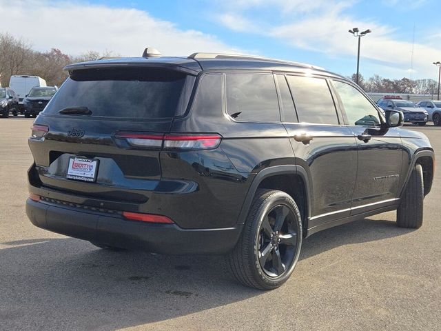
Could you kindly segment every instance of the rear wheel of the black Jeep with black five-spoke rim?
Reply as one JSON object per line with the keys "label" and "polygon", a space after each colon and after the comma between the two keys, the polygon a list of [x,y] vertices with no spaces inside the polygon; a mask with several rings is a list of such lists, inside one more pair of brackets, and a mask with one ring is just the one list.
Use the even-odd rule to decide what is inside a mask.
{"label": "rear wheel of the black Jeep with black five-spoke rim", "polygon": [[258,190],[236,247],[227,259],[236,279],[271,290],[285,283],[302,245],[302,220],[285,192]]}

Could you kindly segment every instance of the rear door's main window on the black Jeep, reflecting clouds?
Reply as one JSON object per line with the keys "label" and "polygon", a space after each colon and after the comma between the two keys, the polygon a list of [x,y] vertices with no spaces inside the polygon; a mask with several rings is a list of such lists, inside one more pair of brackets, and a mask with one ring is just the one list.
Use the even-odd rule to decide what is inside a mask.
{"label": "rear door's main window on the black Jeep, reflecting clouds", "polygon": [[298,121],[338,124],[331,92],[325,79],[287,76],[294,97]]}

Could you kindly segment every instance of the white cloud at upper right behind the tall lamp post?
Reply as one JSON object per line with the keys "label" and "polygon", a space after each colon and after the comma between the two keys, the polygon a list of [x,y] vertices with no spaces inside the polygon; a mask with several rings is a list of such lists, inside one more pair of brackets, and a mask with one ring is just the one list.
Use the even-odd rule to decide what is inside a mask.
{"label": "white cloud at upper right behind the tall lamp post", "polygon": [[[265,3],[261,1],[258,4],[256,4],[256,1],[254,1],[254,6],[265,6],[265,3],[278,6],[280,20],[277,22],[273,19],[271,22],[266,22],[267,28],[248,30],[247,32],[261,34],[265,37],[274,37],[294,48],[323,53],[328,58],[356,55],[357,39],[351,37],[348,30],[358,27],[360,30],[368,28],[372,30],[371,34],[367,34],[366,37],[361,39],[361,57],[370,59],[371,65],[373,67],[378,66],[378,70],[383,70],[384,66],[392,67],[393,70],[389,70],[389,72],[393,71],[396,77],[409,76],[412,48],[413,76],[417,76],[415,78],[433,77],[434,70],[431,63],[434,59],[441,59],[440,34],[435,34],[412,46],[411,42],[393,39],[396,29],[391,28],[391,26],[378,23],[372,19],[356,19],[345,14],[345,9],[351,5],[350,1],[318,0],[315,2],[315,4],[320,4],[318,7],[311,4],[314,1],[292,0],[283,2],[267,0]],[[422,1],[416,2],[421,3]],[[288,20],[283,19],[286,12],[281,11],[282,8],[285,8],[285,10],[286,8],[296,8],[296,5],[301,3],[304,3],[304,7],[297,8],[309,10],[308,14],[295,11],[289,19],[289,22],[294,23],[284,23]],[[239,30],[237,26],[234,26],[234,23],[241,21],[240,14],[245,17],[248,12],[245,9],[243,12],[236,14],[234,21],[224,20],[220,23],[232,30]],[[263,22],[259,23],[263,24]],[[247,24],[252,26],[256,22],[247,19]],[[382,74],[382,71],[378,73]]]}

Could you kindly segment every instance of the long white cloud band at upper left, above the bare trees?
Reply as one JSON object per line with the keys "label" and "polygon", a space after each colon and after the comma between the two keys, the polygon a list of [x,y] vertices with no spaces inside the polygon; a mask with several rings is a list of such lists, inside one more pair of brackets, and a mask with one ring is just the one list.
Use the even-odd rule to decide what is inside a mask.
{"label": "long white cloud band at upper left, above the bare trees", "polygon": [[217,37],[181,30],[136,9],[48,0],[0,0],[0,7],[8,8],[0,31],[23,37],[38,50],[59,48],[67,54],[110,50],[123,56],[141,56],[147,46],[166,55],[238,52]]}

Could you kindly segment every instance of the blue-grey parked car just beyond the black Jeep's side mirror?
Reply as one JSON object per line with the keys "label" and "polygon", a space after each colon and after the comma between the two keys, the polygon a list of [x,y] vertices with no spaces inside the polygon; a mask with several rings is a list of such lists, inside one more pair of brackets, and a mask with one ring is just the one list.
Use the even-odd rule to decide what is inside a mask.
{"label": "blue-grey parked car just beyond the black Jeep's side mirror", "polygon": [[402,111],[404,114],[404,122],[425,126],[429,119],[428,112],[412,101],[383,98],[378,100],[377,104],[383,110],[393,109]]}

